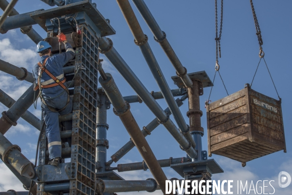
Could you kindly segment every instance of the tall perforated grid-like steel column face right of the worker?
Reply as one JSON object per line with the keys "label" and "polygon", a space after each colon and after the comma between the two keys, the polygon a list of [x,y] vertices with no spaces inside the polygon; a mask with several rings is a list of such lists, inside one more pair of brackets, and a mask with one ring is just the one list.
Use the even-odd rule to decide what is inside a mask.
{"label": "tall perforated grid-like steel column face right of the worker", "polygon": [[85,25],[80,26],[81,46],[75,50],[70,195],[95,194],[95,137],[97,109],[98,42]]}

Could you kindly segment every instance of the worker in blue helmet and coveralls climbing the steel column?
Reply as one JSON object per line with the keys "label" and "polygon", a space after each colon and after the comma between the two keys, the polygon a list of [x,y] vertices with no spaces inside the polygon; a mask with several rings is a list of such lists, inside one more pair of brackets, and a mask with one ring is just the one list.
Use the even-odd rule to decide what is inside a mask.
{"label": "worker in blue helmet and coveralls climbing the steel column", "polygon": [[[37,88],[40,90],[41,110],[46,124],[50,154],[48,164],[54,166],[59,164],[62,148],[58,117],[72,113],[73,110],[73,99],[69,96],[62,68],[75,56],[66,36],[61,33],[57,37],[65,44],[66,52],[52,56],[52,46],[42,40],[37,44],[40,61],[33,68],[33,76],[36,80],[35,90]],[[72,130],[72,121],[65,121],[63,125],[65,130]]]}

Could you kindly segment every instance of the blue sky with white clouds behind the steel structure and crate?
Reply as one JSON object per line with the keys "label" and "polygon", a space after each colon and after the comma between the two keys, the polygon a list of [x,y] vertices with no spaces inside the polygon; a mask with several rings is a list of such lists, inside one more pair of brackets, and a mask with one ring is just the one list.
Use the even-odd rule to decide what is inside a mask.
{"label": "blue sky with white clouds behind the steel structure and crate", "polygon": [[[115,0],[92,0],[97,4],[97,9],[107,19],[116,30],[116,35],[110,36],[115,49],[125,59],[130,68],[144,83],[148,91],[159,91],[151,72],[146,64],[140,49],[134,44],[134,38],[128,28]],[[188,70],[188,73],[205,70],[210,78],[215,73],[215,3],[214,0],[145,0],[148,8],[157,20],[161,29],[166,33],[167,39],[176,52],[177,56]],[[175,75],[175,70],[165,56],[160,45],[152,39],[152,33],[145,21],[130,1],[133,10],[141,24],[144,33],[149,38],[149,44],[155,54],[156,59],[163,71],[163,74],[171,89],[177,88],[171,80]],[[258,158],[247,163],[242,168],[241,163],[213,155],[219,165],[225,171],[224,174],[214,175],[213,179],[234,179],[237,180],[275,180],[274,187],[277,186],[277,176],[280,171],[286,171],[292,175],[292,133],[290,127],[292,89],[291,81],[291,33],[292,33],[292,1],[290,0],[254,0],[256,16],[259,21],[263,38],[263,51],[270,72],[274,78],[279,96],[282,98],[282,113],[284,118],[284,129],[287,145],[287,153],[283,151]],[[19,0],[15,8],[19,13],[26,13],[37,9],[50,9],[51,7],[40,0]],[[255,24],[252,16],[250,3],[248,0],[226,0],[223,10],[223,30],[221,37],[221,59],[220,74],[224,80],[229,94],[235,93],[244,87],[245,83],[251,83],[254,76],[258,58],[258,43],[256,38]],[[2,11],[0,12],[2,14]],[[34,25],[36,31],[45,38],[46,32],[39,26]],[[8,61],[18,67],[25,67],[30,72],[38,57],[35,53],[36,44],[27,36],[23,35],[19,29],[11,30],[7,34],[0,35],[0,59]],[[110,72],[115,79],[123,96],[135,95],[128,83],[110,64],[105,56],[101,55],[105,61],[103,66],[106,72]],[[31,85],[26,81],[18,81],[16,78],[4,73],[0,73],[0,89],[8,93],[14,99]],[[212,90],[211,100],[215,101],[227,96],[218,75]],[[99,85],[100,87],[100,85]],[[256,78],[253,83],[254,90],[269,97],[277,98],[273,83],[268,71],[261,62]],[[207,125],[204,101],[208,98],[210,88],[204,88],[204,95],[201,96],[201,117],[202,127],[205,130],[203,139],[203,150],[207,150]],[[167,105],[164,99],[158,100],[162,108]],[[187,101],[183,102],[181,111],[188,123],[186,112],[188,110]],[[33,106],[29,109],[40,118],[40,106],[35,110]],[[1,112],[7,110],[0,104]],[[146,126],[154,115],[149,111],[144,103],[131,104],[131,111],[139,126]],[[173,119],[173,118],[172,118]],[[122,122],[116,117],[112,110],[108,111],[108,139],[110,148],[108,150],[108,160],[110,156],[120,149],[129,136]],[[38,131],[22,119],[18,120],[18,125],[12,127],[5,136],[13,143],[18,144],[27,158],[33,159],[37,145]],[[179,144],[166,131],[163,126],[159,126],[148,136],[147,141],[158,159],[169,157],[182,157],[185,153],[179,148]],[[118,163],[139,162],[142,157],[136,148],[124,156]],[[115,163],[112,166],[116,166]],[[179,177],[172,169],[164,168],[167,177]],[[3,163],[0,163],[0,191],[9,189],[22,191],[22,185],[12,184],[16,180]],[[151,177],[147,171],[121,174],[126,179],[146,179]],[[236,185],[236,183],[234,183]],[[236,189],[236,188],[235,188]],[[292,185],[281,189],[277,186],[275,195],[290,194]],[[237,194],[234,191],[234,194]],[[272,191],[273,192],[273,191]],[[253,193],[253,192],[252,192]],[[121,193],[119,193],[121,194]],[[155,192],[154,194],[161,194]]]}

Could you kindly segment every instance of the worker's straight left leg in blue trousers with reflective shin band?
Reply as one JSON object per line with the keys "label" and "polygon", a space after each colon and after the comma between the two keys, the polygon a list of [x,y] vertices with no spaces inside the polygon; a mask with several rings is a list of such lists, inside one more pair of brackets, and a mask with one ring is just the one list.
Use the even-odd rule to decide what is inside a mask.
{"label": "worker's straight left leg in blue trousers with reflective shin band", "polygon": [[59,131],[59,113],[52,112],[46,105],[41,104],[46,128],[46,136],[48,139],[49,159],[61,157],[61,137]]}

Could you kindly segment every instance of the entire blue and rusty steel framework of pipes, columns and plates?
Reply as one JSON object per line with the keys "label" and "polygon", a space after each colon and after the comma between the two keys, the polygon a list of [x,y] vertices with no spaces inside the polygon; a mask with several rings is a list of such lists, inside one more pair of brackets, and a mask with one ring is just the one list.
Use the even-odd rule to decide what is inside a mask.
{"label": "entire blue and rusty steel framework of pipes, columns and plates", "polygon": [[[223,172],[217,162],[214,159],[207,159],[207,152],[202,151],[201,137],[204,135],[204,130],[201,127],[200,96],[203,95],[203,88],[213,86],[213,83],[205,71],[187,73],[166,39],[166,34],[160,29],[143,0],[133,0],[133,2],[152,31],[154,39],[161,45],[173,64],[177,76],[172,79],[178,89],[170,90],[147,42],[148,37],[143,33],[128,0],[117,0],[117,2],[128,22],[135,44],[141,49],[161,92],[147,91],[126,61],[115,50],[111,39],[106,37],[114,35],[115,31],[110,25],[110,20],[105,19],[97,10],[95,3],[92,3],[91,0],[42,1],[57,7],[19,14],[13,5],[9,5],[6,0],[0,0],[0,8],[5,10],[6,7],[9,7],[10,10],[10,13],[5,11],[9,17],[6,20],[2,19],[5,21],[1,25],[1,33],[20,28],[22,33],[38,43],[43,38],[32,28],[32,25],[38,24],[47,32],[47,38],[44,40],[52,45],[52,53],[57,54],[59,42],[56,34],[58,25],[60,25],[61,31],[66,35],[76,54],[75,58],[63,68],[67,83],[71,86],[69,93],[73,97],[73,113],[60,116],[59,122],[72,120],[73,125],[71,131],[60,131],[64,147],[62,148],[62,163],[57,168],[48,165],[49,152],[45,132],[42,131],[40,135],[36,167],[21,154],[17,145],[13,145],[3,136],[11,126],[17,125],[19,117],[38,130],[41,129],[43,119],[40,120],[27,111],[34,103],[34,85],[32,84],[17,101],[0,91],[0,102],[9,108],[2,113],[0,118],[0,158],[23,183],[26,190],[33,183],[32,195],[46,195],[47,193],[113,195],[120,192],[154,192],[156,190],[161,190],[165,194],[167,178],[162,167],[171,167],[184,179],[191,180],[210,180],[213,174]],[[81,33],[76,32],[77,25]],[[61,50],[64,49],[63,46]],[[126,97],[121,95],[113,77],[104,72],[99,53],[104,54],[110,60],[137,95]],[[25,68],[17,67],[3,60],[0,60],[0,70],[17,77],[18,80],[34,82],[32,73]],[[74,80],[72,80],[72,75],[75,75]],[[98,88],[98,82],[102,88]],[[178,96],[181,98],[174,98]],[[163,109],[158,104],[156,99],[161,98],[165,99],[168,108]],[[179,109],[183,105],[183,100],[187,98],[189,105],[187,116],[190,126],[183,119],[183,114]],[[144,102],[156,117],[142,129],[139,128],[130,111],[130,103],[134,102]],[[114,114],[123,122],[131,139],[107,161],[107,149],[109,148],[107,110],[110,109],[110,104]],[[175,121],[170,119],[171,114]],[[160,124],[163,124],[175,138],[187,157],[157,160],[145,137]],[[68,138],[72,139],[71,144],[68,143]],[[118,162],[135,146],[144,159],[142,162],[118,164],[117,167],[111,167],[113,162]],[[184,153],[183,156],[185,156]],[[65,158],[70,159],[70,162],[65,163]],[[114,170],[125,172],[147,169],[150,170],[153,179],[124,180],[114,172]],[[22,195],[26,192],[10,191],[0,193],[0,195],[12,195],[13,193]]]}

